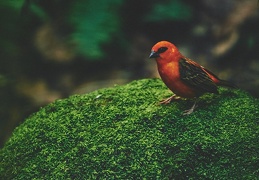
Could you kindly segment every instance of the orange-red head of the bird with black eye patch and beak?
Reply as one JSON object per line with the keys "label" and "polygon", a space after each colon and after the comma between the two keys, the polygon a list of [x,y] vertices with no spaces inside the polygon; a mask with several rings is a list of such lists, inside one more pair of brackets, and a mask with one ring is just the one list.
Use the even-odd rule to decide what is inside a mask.
{"label": "orange-red head of the bird with black eye patch and beak", "polygon": [[155,58],[157,61],[173,61],[179,55],[181,54],[174,44],[168,41],[160,41],[152,47],[149,58]]}

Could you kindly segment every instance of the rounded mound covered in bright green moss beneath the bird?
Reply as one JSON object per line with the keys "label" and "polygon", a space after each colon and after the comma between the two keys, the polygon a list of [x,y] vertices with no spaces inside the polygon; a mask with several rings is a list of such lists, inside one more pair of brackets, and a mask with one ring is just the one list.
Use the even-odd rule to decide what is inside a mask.
{"label": "rounded mound covered in bright green moss beneath the bird", "polygon": [[220,88],[192,101],[160,79],[58,100],[30,116],[0,151],[2,179],[256,179],[259,100]]}

